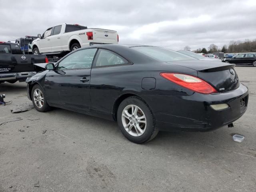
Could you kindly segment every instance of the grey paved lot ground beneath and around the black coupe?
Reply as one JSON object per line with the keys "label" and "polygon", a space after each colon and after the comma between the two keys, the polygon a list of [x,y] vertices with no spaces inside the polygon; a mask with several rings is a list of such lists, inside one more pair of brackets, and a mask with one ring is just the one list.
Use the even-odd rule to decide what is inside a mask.
{"label": "grey paved lot ground beneath and around the black coupe", "polygon": [[0,192],[256,191],[256,68],[236,71],[250,96],[234,128],[160,132],[146,144],[126,140],[116,122],[76,112],[12,114],[29,102],[26,83],[0,84],[13,101],[0,106]]}

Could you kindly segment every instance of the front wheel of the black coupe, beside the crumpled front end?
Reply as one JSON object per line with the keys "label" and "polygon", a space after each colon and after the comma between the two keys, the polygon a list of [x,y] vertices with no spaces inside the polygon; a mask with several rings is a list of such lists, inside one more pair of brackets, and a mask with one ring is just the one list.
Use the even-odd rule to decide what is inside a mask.
{"label": "front wheel of the black coupe, beside the crumpled front end", "polygon": [[43,88],[39,84],[35,84],[32,88],[31,99],[34,108],[39,112],[49,111],[51,108],[46,102],[46,95]]}

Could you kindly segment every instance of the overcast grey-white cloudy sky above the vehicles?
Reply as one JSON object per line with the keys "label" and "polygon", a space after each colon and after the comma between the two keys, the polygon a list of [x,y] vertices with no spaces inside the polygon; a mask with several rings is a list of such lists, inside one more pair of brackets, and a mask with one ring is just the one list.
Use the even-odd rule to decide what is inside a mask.
{"label": "overcast grey-white cloudy sky above the vehicles", "polygon": [[121,44],[192,50],[256,39],[256,0],[0,0],[0,41],[71,23],[117,30]]}

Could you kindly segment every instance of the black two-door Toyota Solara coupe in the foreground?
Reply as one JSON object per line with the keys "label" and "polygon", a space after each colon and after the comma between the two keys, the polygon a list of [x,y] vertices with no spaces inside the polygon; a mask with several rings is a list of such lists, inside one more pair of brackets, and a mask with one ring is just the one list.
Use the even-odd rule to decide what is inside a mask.
{"label": "black two-door Toyota Solara coupe in the foreground", "polygon": [[234,64],[160,47],[93,45],[45,69],[26,81],[36,110],[52,106],[114,120],[136,143],[159,130],[220,128],[247,109],[248,88]]}

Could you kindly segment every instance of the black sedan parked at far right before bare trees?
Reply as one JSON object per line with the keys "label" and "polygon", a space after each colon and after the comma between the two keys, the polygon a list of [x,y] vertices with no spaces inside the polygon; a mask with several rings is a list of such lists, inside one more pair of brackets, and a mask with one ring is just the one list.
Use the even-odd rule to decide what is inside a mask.
{"label": "black sedan parked at far right before bare trees", "polygon": [[256,54],[242,53],[233,58],[224,58],[222,62],[232,63],[236,65],[252,65],[256,67]]}

